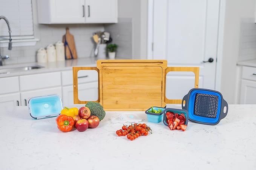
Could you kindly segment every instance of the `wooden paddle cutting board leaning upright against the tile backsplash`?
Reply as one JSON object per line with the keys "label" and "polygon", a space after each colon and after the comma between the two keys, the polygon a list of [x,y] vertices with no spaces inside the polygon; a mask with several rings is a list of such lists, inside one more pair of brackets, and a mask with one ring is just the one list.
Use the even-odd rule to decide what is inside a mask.
{"label": "wooden paddle cutting board leaning upright against the tile backsplash", "polygon": [[69,28],[66,27],[66,34],[63,35],[62,42],[65,47],[65,59],[77,59],[77,50],[75,48],[74,36],[69,32]]}

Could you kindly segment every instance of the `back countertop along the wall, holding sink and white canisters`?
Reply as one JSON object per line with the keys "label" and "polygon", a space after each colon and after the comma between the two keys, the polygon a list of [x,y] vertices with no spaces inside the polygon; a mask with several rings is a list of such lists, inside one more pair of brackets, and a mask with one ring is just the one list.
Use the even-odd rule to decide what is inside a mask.
{"label": "back countertop along the wall, holding sink and white canisters", "polygon": [[[108,58],[106,58],[105,60],[107,59]],[[121,58],[116,58],[116,59],[121,59]],[[23,66],[38,66],[38,65],[43,66],[43,68],[39,68],[39,69],[32,69],[32,70],[21,71],[21,72],[11,72],[8,74],[0,74],[0,78],[19,76],[19,75],[28,75],[28,74],[38,74],[38,73],[45,73],[45,72],[72,70],[72,67],[76,67],[76,66],[96,67],[97,60],[103,60],[103,59],[98,59],[97,57],[86,57],[86,58],[65,60],[63,62],[23,63],[23,64],[0,66],[0,70],[8,69],[8,68],[23,67]]]}

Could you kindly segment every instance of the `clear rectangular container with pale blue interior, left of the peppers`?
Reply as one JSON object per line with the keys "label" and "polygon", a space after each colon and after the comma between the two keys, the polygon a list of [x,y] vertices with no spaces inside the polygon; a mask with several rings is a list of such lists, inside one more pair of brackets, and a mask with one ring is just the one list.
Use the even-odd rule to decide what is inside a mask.
{"label": "clear rectangular container with pale blue interior, left of the peppers", "polygon": [[39,96],[29,99],[30,116],[35,119],[58,116],[63,109],[62,100],[58,95]]}

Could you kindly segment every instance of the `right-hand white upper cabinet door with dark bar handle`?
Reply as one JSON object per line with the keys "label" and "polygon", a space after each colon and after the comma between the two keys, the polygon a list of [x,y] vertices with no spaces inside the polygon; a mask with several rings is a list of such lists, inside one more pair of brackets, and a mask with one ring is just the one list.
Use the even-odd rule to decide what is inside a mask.
{"label": "right-hand white upper cabinet door with dark bar handle", "polygon": [[117,23],[117,0],[85,0],[86,23]]}

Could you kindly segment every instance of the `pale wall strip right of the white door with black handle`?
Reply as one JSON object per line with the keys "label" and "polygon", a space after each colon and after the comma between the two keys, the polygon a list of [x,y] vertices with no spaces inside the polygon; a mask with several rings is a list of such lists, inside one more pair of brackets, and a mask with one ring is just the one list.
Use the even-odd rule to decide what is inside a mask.
{"label": "pale wall strip right of the white door with black handle", "polygon": [[229,104],[235,104],[239,90],[236,63],[239,58],[241,21],[254,18],[254,14],[255,0],[226,0],[220,91]]}

